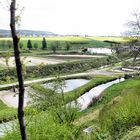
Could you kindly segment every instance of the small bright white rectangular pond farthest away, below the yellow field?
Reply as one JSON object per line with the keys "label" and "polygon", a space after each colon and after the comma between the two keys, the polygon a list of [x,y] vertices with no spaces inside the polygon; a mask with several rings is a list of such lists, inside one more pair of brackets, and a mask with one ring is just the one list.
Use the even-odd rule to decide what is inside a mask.
{"label": "small bright white rectangular pond farthest away, below the yellow field", "polygon": [[109,48],[87,48],[87,51],[90,53],[97,53],[97,54],[112,54],[111,49]]}

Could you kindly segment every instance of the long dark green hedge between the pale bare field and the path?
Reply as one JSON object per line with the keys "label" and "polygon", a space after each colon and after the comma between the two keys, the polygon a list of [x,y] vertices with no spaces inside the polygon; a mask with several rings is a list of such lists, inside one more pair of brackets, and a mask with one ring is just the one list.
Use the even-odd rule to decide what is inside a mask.
{"label": "long dark green hedge between the pale bare field and the path", "polygon": [[[91,60],[81,60],[55,65],[29,66],[26,67],[26,74],[24,74],[24,78],[29,79],[29,78],[45,77],[54,75],[56,73],[70,74],[75,72],[83,72],[92,68],[98,68],[103,65],[109,65],[115,62],[117,62],[117,59],[109,56],[105,58],[94,58]],[[15,77],[17,77],[15,68],[0,71],[0,81],[1,80],[4,81],[7,76],[10,76],[11,79],[15,80]]]}

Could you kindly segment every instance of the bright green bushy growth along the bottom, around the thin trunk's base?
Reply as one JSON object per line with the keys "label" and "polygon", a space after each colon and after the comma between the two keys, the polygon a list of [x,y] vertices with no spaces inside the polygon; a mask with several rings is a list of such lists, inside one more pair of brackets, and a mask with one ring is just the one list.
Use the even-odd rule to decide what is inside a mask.
{"label": "bright green bushy growth along the bottom, around the thin trunk's base", "polygon": [[[58,123],[52,114],[42,112],[33,118],[27,118],[26,126],[28,140],[82,140],[81,131],[78,127],[69,123]],[[82,137],[81,137],[82,138]],[[1,140],[20,140],[18,127],[12,132],[7,132]]]}

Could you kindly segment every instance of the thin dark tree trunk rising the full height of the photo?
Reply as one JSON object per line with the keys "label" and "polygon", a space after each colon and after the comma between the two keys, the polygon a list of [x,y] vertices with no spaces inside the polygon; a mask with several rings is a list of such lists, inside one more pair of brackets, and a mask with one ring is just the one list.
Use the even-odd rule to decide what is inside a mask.
{"label": "thin dark tree trunk rising the full height of the photo", "polygon": [[20,61],[20,51],[18,47],[19,38],[16,34],[16,0],[11,0],[10,5],[10,27],[11,27],[11,34],[13,38],[13,46],[14,46],[14,55],[15,55],[15,62],[16,62],[16,71],[18,76],[18,83],[19,83],[19,101],[18,101],[18,120],[20,125],[20,133],[22,140],[27,140],[26,135],[26,127],[24,123],[24,82],[22,76],[22,65]]}

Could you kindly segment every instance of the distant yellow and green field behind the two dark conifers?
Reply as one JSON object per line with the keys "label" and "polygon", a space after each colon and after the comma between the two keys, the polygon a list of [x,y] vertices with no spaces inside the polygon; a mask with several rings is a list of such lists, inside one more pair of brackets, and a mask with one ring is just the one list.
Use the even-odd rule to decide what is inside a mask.
{"label": "distant yellow and green field behind the two dark conifers", "polygon": [[[22,37],[20,43],[22,43],[22,48],[27,48],[27,41],[31,40],[32,45],[35,43],[38,44],[38,48],[42,46],[42,37]],[[11,40],[11,38],[0,38],[0,50],[6,50],[7,47],[5,44]],[[46,37],[47,48],[51,50],[51,43],[58,41],[59,47],[58,50],[66,50],[65,42],[71,43],[70,50],[79,50],[87,47],[110,47],[112,44],[104,42],[104,40],[109,41],[123,41],[121,37]],[[5,47],[3,47],[5,46]]]}

